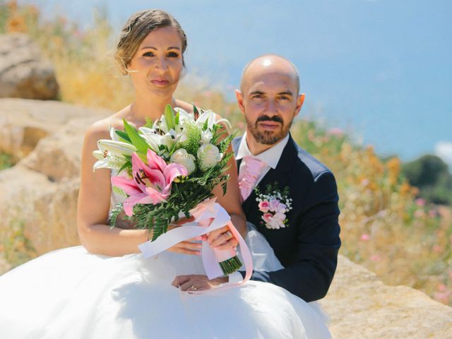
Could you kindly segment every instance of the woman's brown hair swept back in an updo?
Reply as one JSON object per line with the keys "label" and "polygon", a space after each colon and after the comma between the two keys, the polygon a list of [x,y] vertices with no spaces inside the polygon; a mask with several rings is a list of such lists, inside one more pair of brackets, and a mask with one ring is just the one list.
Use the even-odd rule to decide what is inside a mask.
{"label": "woman's brown hair swept back in an updo", "polygon": [[133,55],[135,55],[144,38],[157,28],[168,26],[175,28],[179,33],[182,41],[182,66],[185,68],[183,54],[186,49],[186,35],[181,25],[165,11],[148,9],[134,13],[121,30],[117,50],[114,54],[114,59],[121,73],[128,74],[127,66],[129,66]]}

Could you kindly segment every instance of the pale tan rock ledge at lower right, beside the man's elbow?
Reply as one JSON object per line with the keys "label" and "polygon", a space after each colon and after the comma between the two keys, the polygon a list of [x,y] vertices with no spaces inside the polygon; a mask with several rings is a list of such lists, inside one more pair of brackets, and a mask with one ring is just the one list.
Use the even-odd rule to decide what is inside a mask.
{"label": "pale tan rock ledge at lower right, beside the man's elbow", "polygon": [[410,287],[385,285],[344,256],[320,303],[333,338],[452,338],[451,307]]}

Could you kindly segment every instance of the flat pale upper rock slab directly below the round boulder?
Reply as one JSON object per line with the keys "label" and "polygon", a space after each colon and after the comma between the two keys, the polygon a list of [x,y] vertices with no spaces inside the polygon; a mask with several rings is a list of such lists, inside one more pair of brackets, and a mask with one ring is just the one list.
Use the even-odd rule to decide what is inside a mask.
{"label": "flat pale upper rock slab directly below the round boulder", "polygon": [[95,121],[109,114],[112,112],[106,109],[87,109],[56,101],[0,99],[0,153],[13,155],[17,162],[34,150],[38,141],[72,119],[92,117]]}

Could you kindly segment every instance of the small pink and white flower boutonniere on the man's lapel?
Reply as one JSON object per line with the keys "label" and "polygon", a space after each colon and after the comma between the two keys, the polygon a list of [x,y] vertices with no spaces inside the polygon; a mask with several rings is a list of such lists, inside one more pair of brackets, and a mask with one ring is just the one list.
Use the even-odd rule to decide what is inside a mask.
{"label": "small pink and white flower boutonniere on the man's lapel", "polygon": [[280,190],[278,184],[268,184],[266,193],[259,191],[258,186],[254,189],[259,210],[262,212],[261,223],[269,230],[279,230],[288,225],[286,213],[292,210],[292,198],[289,198],[289,187]]}

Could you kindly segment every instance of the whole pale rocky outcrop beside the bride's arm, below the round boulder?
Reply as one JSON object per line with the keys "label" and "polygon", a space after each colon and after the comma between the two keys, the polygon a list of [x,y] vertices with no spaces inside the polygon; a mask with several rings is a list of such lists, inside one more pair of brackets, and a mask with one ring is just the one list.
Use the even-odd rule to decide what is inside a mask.
{"label": "whole pale rocky outcrop beside the bride's arm, below the round boulder", "polygon": [[61,102],[0,99],[0,152],[18,161],[0,171],[0,235],[2,228],[20,223],[37,254],[79,244],[83,134],[108,114]]}

